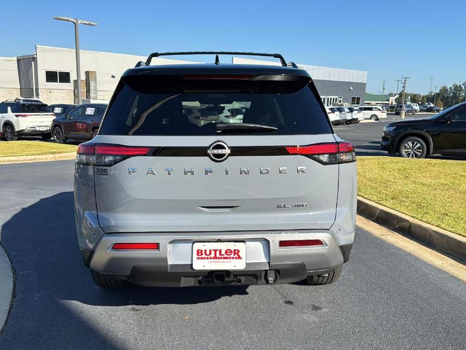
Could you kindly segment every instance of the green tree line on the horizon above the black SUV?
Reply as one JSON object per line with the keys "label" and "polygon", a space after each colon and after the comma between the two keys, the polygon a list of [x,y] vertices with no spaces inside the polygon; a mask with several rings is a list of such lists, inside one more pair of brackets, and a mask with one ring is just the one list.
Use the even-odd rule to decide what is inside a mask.
{"label": "green tree line on the horizon above the black SUV", "polygon": [[[406,102],[426,104],[432,102],[440,108],[448,108],[459,102],[466,101],[466,81],[461,84],[454,83],[451,86],[443,85],[435,93],[429,92],[427,95],[416,93],[405,93]],[[397,103],[402,103],[402,93],[398,96]]]}

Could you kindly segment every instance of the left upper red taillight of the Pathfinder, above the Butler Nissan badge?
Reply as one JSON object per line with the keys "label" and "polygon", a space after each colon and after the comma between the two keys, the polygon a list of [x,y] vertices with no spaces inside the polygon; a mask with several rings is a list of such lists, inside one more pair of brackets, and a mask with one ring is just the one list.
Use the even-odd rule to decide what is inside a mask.
{"label": "left upper red taillight of the Pathfinder, above the Butler Nissan badge", "polygon": [[76,163],[83,165],[112,166],[134,156],[148,155],[151,147],[130,147],[82,143],[78,146]]}

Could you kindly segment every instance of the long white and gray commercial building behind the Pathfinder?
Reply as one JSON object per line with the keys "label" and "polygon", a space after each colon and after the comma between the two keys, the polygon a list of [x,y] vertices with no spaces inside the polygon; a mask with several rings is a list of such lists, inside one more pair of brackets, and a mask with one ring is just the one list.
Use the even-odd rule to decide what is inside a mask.
{"label": "long white and gray commercial building behind the Pathfinder", "polygon": [[[146,61],[147,56],[80,50],[80,58],[82,99],[108,101],[121,74],[137,62]],[[152,65],[186,63],[194,62],[159,57],[152,60]],[[242,57],[233,57],[233,63],[280,65]],[[359,105],[364,101],[367,72],[308,65],[298,67],[310,73],[325,105]],[[36,45],[34,54],[0,57],[0,73],[0,100],[36,96],[48,104],[77,102],[74,49]]]}

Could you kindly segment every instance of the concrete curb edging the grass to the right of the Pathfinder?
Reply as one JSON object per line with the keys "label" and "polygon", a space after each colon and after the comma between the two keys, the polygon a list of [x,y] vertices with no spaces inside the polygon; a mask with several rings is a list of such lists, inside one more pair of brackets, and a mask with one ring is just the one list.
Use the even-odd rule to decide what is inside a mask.
{"label": "concrete curb edging the grass to the right of the Pathfinder", "polygon": [[357,212],[365,218],[384,224],[404,235],[414,237],[418,241],[466,261],[466,237],[456,235],[446,229],[425,223],[359,196]]}

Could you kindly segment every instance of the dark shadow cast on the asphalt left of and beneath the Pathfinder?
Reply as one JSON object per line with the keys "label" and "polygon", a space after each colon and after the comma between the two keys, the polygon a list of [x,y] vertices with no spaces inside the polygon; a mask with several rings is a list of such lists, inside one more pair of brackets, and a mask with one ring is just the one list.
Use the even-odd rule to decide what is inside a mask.
{"label": "dark shadow cast on the asphalt left of and beneath the Pathfinder", "polygon": [[[87,305],[198,304],[248,294],[246,286],[97,287],[79,253],[73,192],[41,199],[15,214],[1,229],[2,243],[16,271],[16,299],[0,348],[78,348],[76,339],[81,344],[89,341],[85,347],[118,348],[79,311],[82,304],[86,310]],[[34,346],[37,336],[44,335],[43,344]]]}

